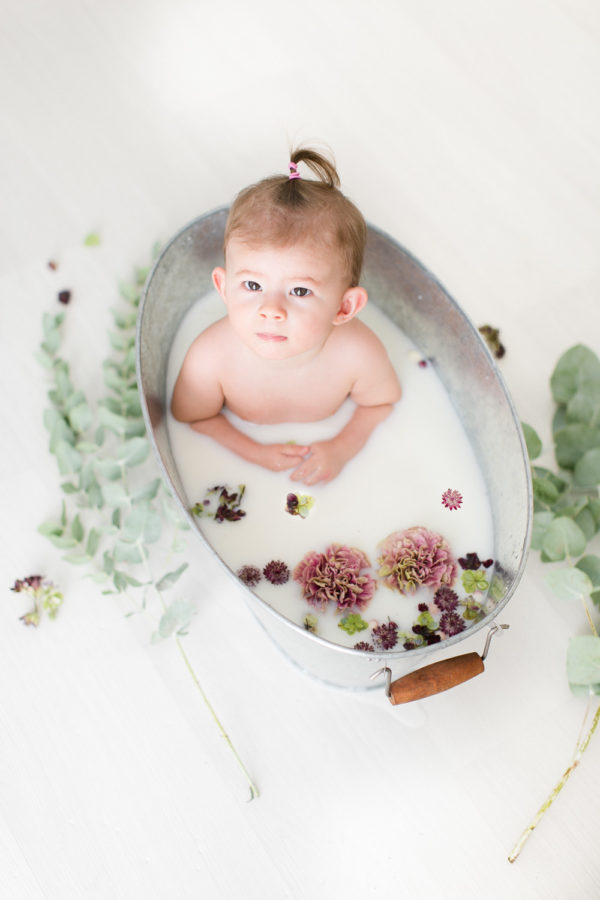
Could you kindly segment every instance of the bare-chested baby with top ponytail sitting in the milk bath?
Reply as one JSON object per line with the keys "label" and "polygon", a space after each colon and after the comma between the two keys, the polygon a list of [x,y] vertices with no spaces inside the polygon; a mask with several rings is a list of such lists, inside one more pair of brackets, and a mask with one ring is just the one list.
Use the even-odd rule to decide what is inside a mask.
{"label": "bare-chested baby with top ponytail sitting in the milk bath", "polygon": [[[301,162],[318,180],[301,178]],[[227,315],[188,350],[171,410],[244,459],[316,484],[359,452],[401,389],[381,341],[356,318],[367,302],[362,215],[321,154],[298,149],[289,168],[241,191],[231,208],[225,268],[212,273]],[[356,408],[347,425],[310,446],[258,443],[222,414],[225,405],[259,424],[314,422],[348,396]]]}

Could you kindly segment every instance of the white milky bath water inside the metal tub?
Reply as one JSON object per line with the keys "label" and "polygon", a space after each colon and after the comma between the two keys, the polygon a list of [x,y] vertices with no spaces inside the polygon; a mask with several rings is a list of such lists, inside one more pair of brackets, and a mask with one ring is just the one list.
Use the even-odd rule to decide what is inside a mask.
{"label": "white milky bath water inside the metal tub", "polygon": [[[223,314],[223,303],[215,292],[200,298],[188,310],[170,352],[169,398],[188,347]],[[228,490],[245,485],[241,506],[246,515],[239,521],[197,520],[201,533],[234,573],[248,565],[262,570],[272,560],[284,562],[293,573],[306,553],[322,553],[331,544],[341,544],[366,554],[371,563],[369,572],[379,584],[372,600],[361,610],[369,628],[354,634],[339,627],[347,612],[354,610],[340,612],[332,603],[324,612],[315,609],[304,599],[301,585],[291,574],[287,583],[277,585],[263,577],[252,588],[259,597],[292,622],[315,628],[321,638],[346,647],[369,643],[372,629],[391,620],[400,633],[398,650],[412,635],[420,615],[418,605],[428,603],[431,608],[433,591],[420,587],[403,595],[385,586],[377,578],[377,545],[391,532],[424,526],[446,539],[455,559],[477,553],[481,560],[487,560],[493,552],[492,515],[475,454],[434,364],[422,359],[415,345],[375,304],[369,303],[360,318],[386,347],[403,395],[367,445],[329,484],[306,486],[290,480],[292,470],[270,472],[240,459],[189,425],[177,422],[170,413],[168,431],[190,507],[202,501],[215,485],[226,485]],[[225,414],[237,428],[261,443],[310,444],[337,434],[353,409],[353,402],[347,400],[329,419],[280,425],[254,425],[227,411]],[[461,494],[460,508],[448,509],[442,503],[448,489]],[[309,494],[314,499],[306,518],[286,511],[289,492]],[[480,571],[489,582],[493,570]],[[461,600],[468,593],[461,584],[462,575],[459,566],[454,590]],[[482,607],[484,594],[474,595]],[[433,611],[439,618],[439,610],[433,607]],[[314,618],[307,620],[307,616]],[[465,627],[470,623],[465,620]]]}

